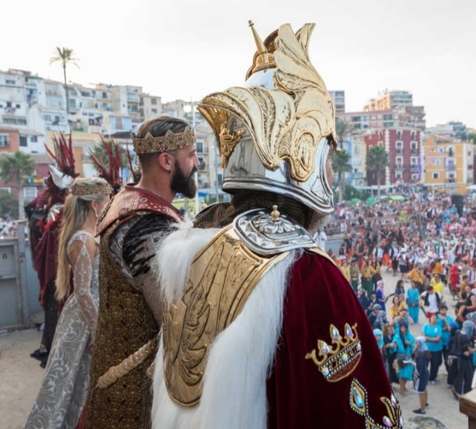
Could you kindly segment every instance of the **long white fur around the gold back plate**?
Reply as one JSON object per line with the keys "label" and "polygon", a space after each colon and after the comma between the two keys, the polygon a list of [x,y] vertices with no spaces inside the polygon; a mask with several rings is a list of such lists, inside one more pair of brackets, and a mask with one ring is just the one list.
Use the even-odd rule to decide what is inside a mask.
{"label": "long white fur around the gold back plate", "polygon": [[[169,303],[181,295],[194,255],[218,232],[181,228],[159,253],[160,283]],[[209,349],[198,406],[185,408],[170,399],[163,381],[163,344],[155,358],[152,429],[266,429],[266,380],[282,328],[286,273],[294,252],[256,285],[240,315]]]}

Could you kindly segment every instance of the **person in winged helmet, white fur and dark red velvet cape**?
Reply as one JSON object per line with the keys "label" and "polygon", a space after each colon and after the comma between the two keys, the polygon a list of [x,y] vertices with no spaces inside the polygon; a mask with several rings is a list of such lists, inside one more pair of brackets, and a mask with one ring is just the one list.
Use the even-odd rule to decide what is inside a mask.
{"label": "person in winged helmet, white fur and dark red velvet cape", "polygon": [[333,210],[337,137],[311,30],[282,25],[262,43],[253,29],[247,87],[199,104],[233,198],[194,220],[218,228],[163,241],[153,428],[402,425],[365,312],[313,240]]}

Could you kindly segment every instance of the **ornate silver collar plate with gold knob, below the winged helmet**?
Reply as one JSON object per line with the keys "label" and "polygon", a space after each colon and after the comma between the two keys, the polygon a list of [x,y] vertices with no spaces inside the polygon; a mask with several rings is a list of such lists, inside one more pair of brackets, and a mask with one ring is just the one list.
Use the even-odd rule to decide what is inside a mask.
{"label": "ornate silver collar plate with gold knob, below the winged helmet", "polygon": [[273,211],[254,209],[239,214],[234,229],[243,243],[259,255],[273,255],[299,248],[315,248],[313,237],[297,223]]}

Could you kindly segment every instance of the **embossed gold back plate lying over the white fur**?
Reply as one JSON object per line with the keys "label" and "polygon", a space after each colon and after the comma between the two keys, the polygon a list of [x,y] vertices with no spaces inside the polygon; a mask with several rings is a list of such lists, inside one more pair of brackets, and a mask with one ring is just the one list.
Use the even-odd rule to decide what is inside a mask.
{"label": "embossed gold back plate lying over the white fur", "polygon": [[173,401],[199,403],[209,345],[240,314],[262,275],[287,254],[254,254],[229,225],[195,256],[183,297],[163,307],[163,375]]}

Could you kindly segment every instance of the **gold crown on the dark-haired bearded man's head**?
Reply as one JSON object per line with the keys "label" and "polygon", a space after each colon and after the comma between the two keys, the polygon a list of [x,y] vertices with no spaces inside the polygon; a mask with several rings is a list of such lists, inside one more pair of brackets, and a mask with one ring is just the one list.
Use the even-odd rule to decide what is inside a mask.
{"label": "gold crown on the dark-haired bearded man's head", "polygon": [[165,151],[174,151],[195,143],[195,133],[186,126],[182,133],[172,133],[168,130],[162,137],[154,137],[147,133],[144,138],[133,136],[133,145],[135,153],[159,153]]}

